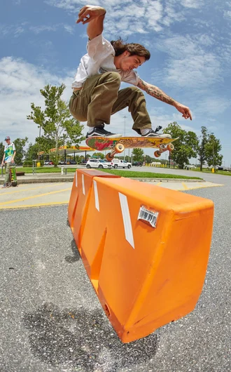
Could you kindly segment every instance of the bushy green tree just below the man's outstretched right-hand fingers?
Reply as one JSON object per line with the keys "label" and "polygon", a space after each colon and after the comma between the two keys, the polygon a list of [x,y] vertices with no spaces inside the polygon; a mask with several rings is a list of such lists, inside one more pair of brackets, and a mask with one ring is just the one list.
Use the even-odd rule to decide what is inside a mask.
{"label": "bushy green tree just below the man's outstretched right-hand fingers", "polygon": [[197,135],[192,131],[184,131],[176,121],[170,123],[164,133],[171,134],[172,138],[179,138],[174,142],[171,158],[183,169],[184,164],[189,164],[189,159],[197,156],[199,146]]}

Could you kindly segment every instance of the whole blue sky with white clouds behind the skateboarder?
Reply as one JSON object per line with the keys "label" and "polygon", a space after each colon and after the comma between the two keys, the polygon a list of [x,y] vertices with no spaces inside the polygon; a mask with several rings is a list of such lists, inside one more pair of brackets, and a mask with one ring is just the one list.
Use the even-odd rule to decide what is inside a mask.
{"label": "whole blue sky with white clouds behind the skateboarder", "polygon": [[[151,51],[151,60],[137,70],[141,79],[193,113],[193,121],[185,120],[174,107],[145,93],[153,126],[165,128],[177,121],[197,135],[201,126],[207,126],[221,140],[223,164],[230,166],[231,1],[94,0],[90,4],[107,10],[107,39],[121,36]],[[69,100],[87,42],[86,26],[76,25],[84,5],[77,0],[1,1],[0,140],[10,135],[34,141],[38,128],[26,117],[31,102],[43,107],[39,89],[45,84],[64,82],[64,99]],[[125,124],[126,135],[135,135],[127,109],[113,115],[110,130],[124,133]]]}

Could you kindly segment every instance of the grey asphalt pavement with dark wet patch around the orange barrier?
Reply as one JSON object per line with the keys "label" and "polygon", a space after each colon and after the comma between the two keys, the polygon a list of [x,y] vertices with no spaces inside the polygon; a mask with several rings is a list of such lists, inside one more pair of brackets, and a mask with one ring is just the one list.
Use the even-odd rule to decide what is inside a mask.
{"label": "grey asphalt pavement with dark wet patch around the orange barrier", "polygon": [[231,178],[203,178],[224,186],[186,191],[215,204],[200,300],[188,316],[130,344],[99,305],[67,206],[0,211],[0,371],[231,371]]}

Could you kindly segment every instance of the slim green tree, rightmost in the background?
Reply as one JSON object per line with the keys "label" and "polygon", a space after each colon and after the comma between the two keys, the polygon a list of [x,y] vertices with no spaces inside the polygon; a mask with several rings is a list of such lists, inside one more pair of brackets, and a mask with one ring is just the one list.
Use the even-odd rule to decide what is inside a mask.
{"label": "slim green tree, rightmost in the background", "polygon": [[206,160],[209,166],[213,166],[216,171],[216,166],[221,166],[223,155],[219,154],[222,146],[220,140],[214,134],[209,135],[209,141],[205,145]]}

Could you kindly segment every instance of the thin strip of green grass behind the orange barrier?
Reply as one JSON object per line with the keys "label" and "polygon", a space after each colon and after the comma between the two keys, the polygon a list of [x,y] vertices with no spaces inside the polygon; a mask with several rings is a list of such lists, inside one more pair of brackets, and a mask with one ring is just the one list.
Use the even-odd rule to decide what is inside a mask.
{"label": "thin strip of green grass behind the orange barrier", "polygon": [[[25,172],[25,173],[33,173],[33,169],[31,167],[20,167],[17,168],[18,172]],[[74,173],[76,168],[67,168],[68,173]],[[106,173],[121,175],[123,177],[129,178],[181,178],[181,179],[193,179],[193,180],[202,180],[199,177],[188,177],[186,175],[174,175],[174,174],[166,174],[166,173],[155,173],[155,172],[137,172],[137,171],[122,171],[118,169],[100,169],[100,171],[104,171]],[[56,168],[53,166],[50,167],[41,167],[36,168],[36,173],[61,173],[61,168]]]}

